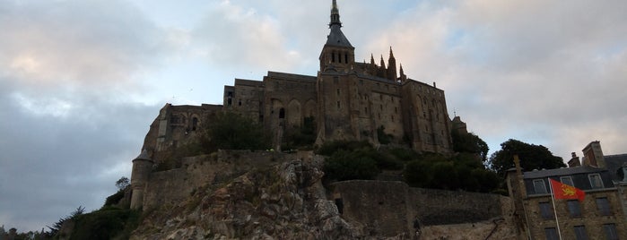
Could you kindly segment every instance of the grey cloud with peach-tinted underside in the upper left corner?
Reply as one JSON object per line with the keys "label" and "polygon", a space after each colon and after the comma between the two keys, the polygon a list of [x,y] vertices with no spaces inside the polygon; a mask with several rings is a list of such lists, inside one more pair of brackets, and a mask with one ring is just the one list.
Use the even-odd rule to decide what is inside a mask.
{"label": "grey cloud with peach-tinted underside in the upper left corner", "polygon": [[0,71],[30,84],[126,81],[162,47],[121,1],[9,1],[0,11]]}

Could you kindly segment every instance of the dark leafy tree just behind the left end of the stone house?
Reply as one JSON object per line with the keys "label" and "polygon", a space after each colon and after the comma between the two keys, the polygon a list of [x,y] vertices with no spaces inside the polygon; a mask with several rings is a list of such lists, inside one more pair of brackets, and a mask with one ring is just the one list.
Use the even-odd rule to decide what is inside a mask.
{"label": "dark leafy tree just behind the left end of the stone house", "polygon": [[501,143],[501,150],[492,153],[489,167],[499,176],[505,176],[507,170],[514,167],[514,155],[518,155],[520,167],[526,171],[566,167],[564,160],[553,156],[553,153],[546,147],[513,139]]}

